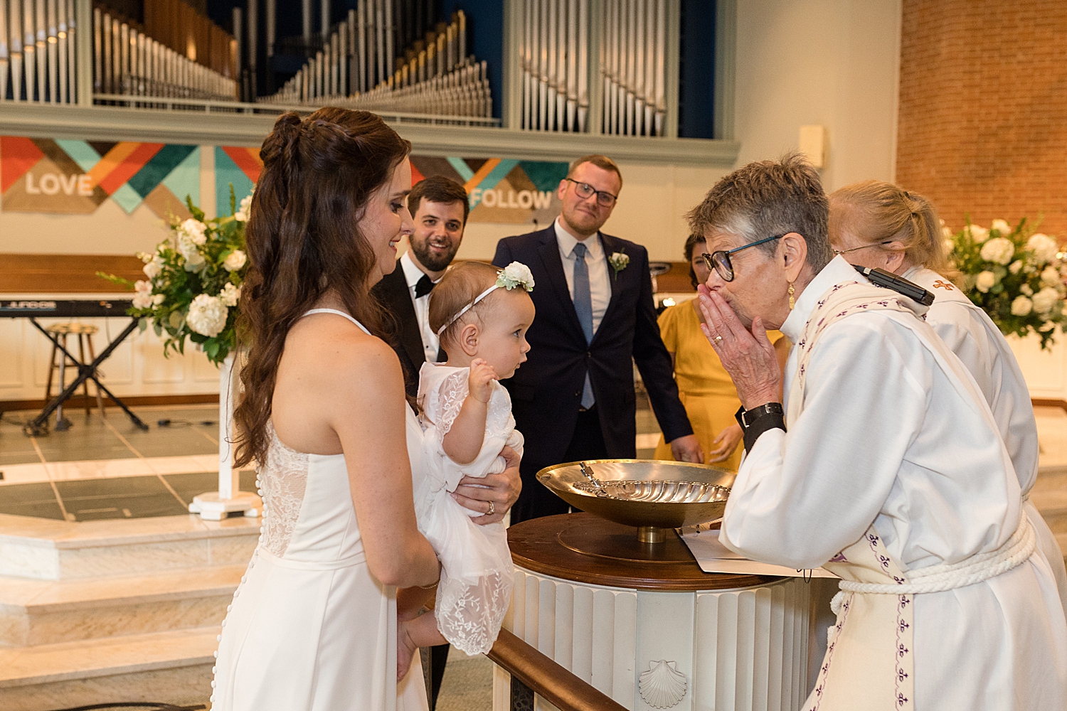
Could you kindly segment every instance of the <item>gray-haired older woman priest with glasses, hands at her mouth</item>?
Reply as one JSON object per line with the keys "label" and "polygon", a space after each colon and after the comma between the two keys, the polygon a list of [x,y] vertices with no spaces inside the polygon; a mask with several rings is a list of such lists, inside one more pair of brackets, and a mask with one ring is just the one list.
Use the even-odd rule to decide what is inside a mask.
{"label": "gray-haired older woman priest with glasses, hands at her mouth", "polygon": [[[796,156],[728,175],[689,220],[747,451],[719,539],[842,578],[805,708],[1067,707],[1052,571],[992,413],[925,308],[833,257],[827,198]],[[784,403],[765,328],[796,344]]]}

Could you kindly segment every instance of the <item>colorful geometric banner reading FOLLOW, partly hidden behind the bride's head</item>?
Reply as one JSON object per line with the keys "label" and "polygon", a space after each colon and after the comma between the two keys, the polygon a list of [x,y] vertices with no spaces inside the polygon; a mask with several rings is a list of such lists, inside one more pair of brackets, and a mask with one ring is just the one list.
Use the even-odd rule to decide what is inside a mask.
{"label": "colorful geometric banner reading FOLLOW, partly hidden behind the bride's head", "polygon": [[[468,222],[547,224],[559,214],[556,188],[567,177],[567,163],[519,161],[509,158],[411,157],[415,184],[431,175],[456,180],[467,192]],[[252,192],[262,162],[258,148],[218,146],[214,149],[216,206],[229,212],[229,185],[238,204]]]}

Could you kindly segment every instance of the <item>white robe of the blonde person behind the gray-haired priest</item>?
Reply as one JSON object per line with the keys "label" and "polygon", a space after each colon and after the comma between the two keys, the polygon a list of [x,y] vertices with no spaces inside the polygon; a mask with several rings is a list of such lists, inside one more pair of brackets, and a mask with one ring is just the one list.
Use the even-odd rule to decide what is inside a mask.
{"label": "white robe of the blonde person behind the gray-haired priest", "polygon": [[1024,498],[1023,508],[1049,562],[1067,614],[1067,569],[1063,551],[1049,524],[1029,499],[1037,481],[1039,446],[1030,389],[1004,335],[985,311],[964,295],[949,279],[925,266],[913,266],[904,278],[934,294],[926,312],[928,323],[974,377],[992,410],[1001,439],[1012,457]]}

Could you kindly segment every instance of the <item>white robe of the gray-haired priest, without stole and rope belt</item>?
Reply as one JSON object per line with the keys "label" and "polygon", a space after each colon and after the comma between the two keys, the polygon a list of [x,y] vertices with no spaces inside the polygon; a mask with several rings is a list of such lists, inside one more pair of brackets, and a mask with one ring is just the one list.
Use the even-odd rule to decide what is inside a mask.
{"label": "white robe of the gray-haired priest, without stole and rope belt", "polygon": [[[800,294],[782,333],[796,342],[819,297],[857,280],[835,258]],[[858,313],[822,334],[799,417],[787,433],[764,433],[740,465],[720,533],[728,548],[813,568],[873,522],[897,565],[915,570],[997,550],[1015,533],[1020,487],[988,405],[976,388],[964,401],[930,350],[959,366],[957,378],[973,378],[931,329],[919,324],[924,344],[904,319],[914,317]],[[1067,621],[1044,556],[982,583],[915,595],[913,632],[915,709],[1067,708]]]}

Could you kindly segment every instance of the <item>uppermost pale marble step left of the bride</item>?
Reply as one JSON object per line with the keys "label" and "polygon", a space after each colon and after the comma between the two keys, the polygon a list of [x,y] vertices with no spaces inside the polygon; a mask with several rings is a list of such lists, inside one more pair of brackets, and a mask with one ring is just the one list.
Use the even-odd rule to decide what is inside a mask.
{"label": "uppermost pale marble step left of the bride", "polygon": [[60,521],[0,515],[0,576],[61,580],[246,565],[259,519]]}

